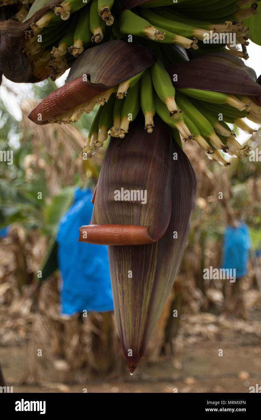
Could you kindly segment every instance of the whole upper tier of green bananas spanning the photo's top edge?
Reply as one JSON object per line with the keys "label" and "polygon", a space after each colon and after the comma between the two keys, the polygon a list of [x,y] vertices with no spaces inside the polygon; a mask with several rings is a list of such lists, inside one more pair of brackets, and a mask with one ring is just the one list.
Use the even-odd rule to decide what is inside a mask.
{"label": "whole upper tier of green bananas spanning the photo's top edge", "polygon": [[[18,21],[26,21],[36,11],[28,11],[23,4],[16,14]],[[39,0],[40,1],[40,0]],[[31,4],[31,3],[30,3]],[[162,44],[178,44],[192,48],[199,54],[211,50],[225,51],[240,58],[248,58],[246,46],[248,27],[243,18],[257,13],[256,3],[251,8],[242,6],[248,1],[189,1],[173,5],[171,1],[148,1],[132,10],[121,11],[119,0],[68,0],[50,6],[36,22],[32,22],[25,33],[23,54],[32,68],[44,66],[51,69],[55,80],[69,68],[75,58],[93,43],[103,40],[106,26],[116,24],[107,30],[109,39],[135,36]],[[215,35],[222,33],[222,43],[216,43]],[[41,37],[39,37],[39,35]],[[233,35],[231,44],[230,35]],[[209,37],[205,43],[206,36]],[[238,45],[242,50],[238,50]]]}

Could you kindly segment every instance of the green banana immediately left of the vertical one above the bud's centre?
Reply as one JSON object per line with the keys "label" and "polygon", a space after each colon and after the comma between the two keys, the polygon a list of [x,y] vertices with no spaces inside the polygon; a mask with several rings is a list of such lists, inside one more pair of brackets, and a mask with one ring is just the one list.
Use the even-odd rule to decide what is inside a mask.
{"label": "green banana immediately left of the vertical one above the bud's centre", "polygon": [[140,110],[140,79],[133,87],[129,88],[127,97],[121,109],[121,125],[119,137],[123,139],[128,132],[129,123],[134,121]]}

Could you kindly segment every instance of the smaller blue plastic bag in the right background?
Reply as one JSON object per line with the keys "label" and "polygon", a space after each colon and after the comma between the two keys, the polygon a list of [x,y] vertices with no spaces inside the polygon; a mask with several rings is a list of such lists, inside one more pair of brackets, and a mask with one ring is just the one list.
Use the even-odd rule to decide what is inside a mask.
{"label": "smaller blue plastic bag in the right background", "polygon": [[223,241],[222,268],[235,268],[236,278],[247,274],[251,236],[248,226],[241,223],[238,228],[227,226]]}

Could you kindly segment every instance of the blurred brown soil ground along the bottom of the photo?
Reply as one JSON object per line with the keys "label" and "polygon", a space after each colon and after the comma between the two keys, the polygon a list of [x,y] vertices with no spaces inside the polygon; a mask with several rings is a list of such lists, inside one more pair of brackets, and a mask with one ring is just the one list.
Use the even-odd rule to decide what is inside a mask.
{"label": "blurred brown soil ground along the bottom of the photo", "polygon": [[[183,349],[182,368],[170,360],[142,360],[133,376],[117,379],[93,379],[87,383],[55,383],[55,371],[43,386],[23,385],[26,375],[26,345],[0,348],[0,360],[7,385],[14,393],[83,392],[88,393],[248,393],[250,386],[261,385],[261,342],[252,334],[230,331],[229,338],[205,340]],[[222,349],[223,356],[218,356]],[[45,385],[45,386],[44,386]]]}

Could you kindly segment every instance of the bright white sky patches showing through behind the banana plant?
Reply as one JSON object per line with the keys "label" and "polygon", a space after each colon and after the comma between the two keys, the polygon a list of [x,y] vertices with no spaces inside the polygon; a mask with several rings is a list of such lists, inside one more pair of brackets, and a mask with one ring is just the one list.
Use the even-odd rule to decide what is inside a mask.
{"label": "bright white sky patches showing through behind the banana plant", "polygon": [[[250,44],[247,47],[249,58],[248,60],[244,60],[244,63],[252,67],[257,74],[257,77],[261,74],[261,46],[254,44],[250,41]],[[69,73],[69,70],[65,72],[59,79],[56,80],[56,84],[58,87],[62,86],[65,82],[65,79]],[[41,83],[41,82],[40,82]],[[10,80],[6,79],[3,76],[3,82],[2,86],[0,87],[0,98],[3,100],[6,108],[8,111],[18,120],[21,121],[22,114],[21,109],[19,107],[19,102],[25,98],[25,97],[33,97],[32,91],[31,91],[31,83],[13,83]],[[18,95],[15,96],[8,91],[8,87],[16,92]],[[258,126],[253,123],[252,121],[247,120],[244,118],[246,123],[251,126],[252,128],[257,128]],[[237,137],[237,140],[243,144],[246,140],[249,139],[249,134],[243,133],[242,130],[240,130],[240,134]]]}

